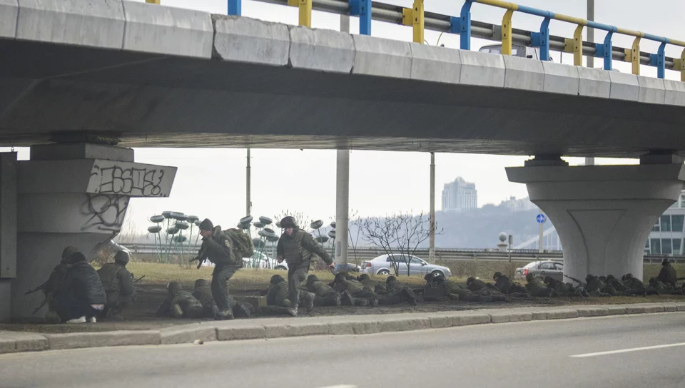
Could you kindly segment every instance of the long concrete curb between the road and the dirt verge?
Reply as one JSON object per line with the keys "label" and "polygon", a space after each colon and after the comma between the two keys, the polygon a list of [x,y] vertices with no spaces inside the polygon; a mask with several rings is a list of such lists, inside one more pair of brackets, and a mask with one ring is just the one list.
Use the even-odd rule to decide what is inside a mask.
{"label": "long concrete curb between the road and the dirt verge", "polygon": [[[343,315],[328,317],[273,318],[259,321],[201,322],[161,330],[119,330],[36,334],[0,332],[0,354],[39,350],[78,349],[127,345],[188,344],[236,339],[270,339],[308,335],[364,335],[380,332],[444,329],[487,323],[564,320],[582,317],[685,312],[685,302],[636,305],[580,305],[578,307],[518,307],[423,314]],[[260,320],[261,321],[261,320]]]}

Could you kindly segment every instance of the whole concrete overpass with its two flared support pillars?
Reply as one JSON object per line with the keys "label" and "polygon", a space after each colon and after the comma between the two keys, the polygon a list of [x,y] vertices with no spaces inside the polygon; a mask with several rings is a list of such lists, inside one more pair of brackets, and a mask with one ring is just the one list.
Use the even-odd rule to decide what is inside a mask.
{"label": "whole concrete overpass with its two flared support pillars", "polygon": [[[422,41],[419,3],[400,14]],[[300,4],[306,24],[312,2]],[[521,34],[500,28],[507,53]],[[611,63],[610,39],[603,51]],[[23,294],[62,247],[92,252],[129,198],[170,194],[175,168],[122,146],[535,155],[507,173],[557,225],[574,277],[641,275],[644,239],[685,180],[685,83],[664,78],[121,0],[0,0],[0,53],[0,144],[31,146],[30,161],[0,163],[0,319],[30,315],[40,298]],[[654,55],[660,76],[681,64]],[[562,155],[641,165],[571,168]]]}

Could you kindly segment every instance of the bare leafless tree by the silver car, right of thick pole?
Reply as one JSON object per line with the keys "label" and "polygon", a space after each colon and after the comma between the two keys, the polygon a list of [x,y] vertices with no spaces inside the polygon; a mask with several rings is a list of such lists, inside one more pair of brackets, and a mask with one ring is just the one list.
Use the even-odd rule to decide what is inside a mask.
{"label": "bare leafless tree by the silver car, right of thick pole", "polygon": [[[443,230],[435,230],[436,235]],[[430,238],[430,220],[424,213],[413,215],[410,212],[400,212],[385,218],[368,218],[362,223],[364,240],[382,247],[390,256],[395,275],[400,274],[399,260],[407,264],[407,275],[410,275],[411,257],[415,255],[422,242]],[[399,255],[394,255],[399,252]]]}

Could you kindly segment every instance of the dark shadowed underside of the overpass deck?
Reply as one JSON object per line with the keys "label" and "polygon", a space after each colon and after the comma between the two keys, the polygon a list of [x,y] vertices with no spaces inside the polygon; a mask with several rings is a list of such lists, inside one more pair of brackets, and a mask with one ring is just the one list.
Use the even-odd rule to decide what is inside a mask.
{"label": "dark shadowed underside of the overpass deck", "polygon": [[0,144],[685,154],[683,108],[0,40]]}

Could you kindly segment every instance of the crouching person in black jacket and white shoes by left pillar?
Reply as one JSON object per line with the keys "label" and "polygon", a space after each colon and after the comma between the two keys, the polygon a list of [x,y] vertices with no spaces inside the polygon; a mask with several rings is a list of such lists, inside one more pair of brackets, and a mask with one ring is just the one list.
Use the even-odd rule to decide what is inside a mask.
{"label": "crouching person in black jacket and white shoes by left pillar", "polygon": [[68,323],[96,322],[107,297],[95,268],[86,262],[83,253],[71,255],[64,282],[54,300],[57,314]]}

